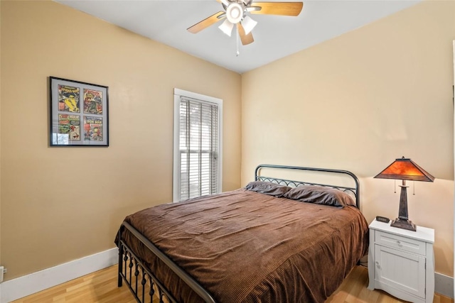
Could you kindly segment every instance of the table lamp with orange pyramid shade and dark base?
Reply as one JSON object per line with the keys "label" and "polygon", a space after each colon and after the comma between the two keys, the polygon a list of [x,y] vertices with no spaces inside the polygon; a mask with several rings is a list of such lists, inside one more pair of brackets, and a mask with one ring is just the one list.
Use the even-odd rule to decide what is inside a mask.
{"label": "table lamp with orange pyramid shade and dark base", "polygon": [[407,216],[407,186],[406,180],[433,182],[434,177],[419,167],[411,159],[405,157],[396,159],[391,165],[382,170],[375,178],[402,180],[400,194],[400,211],[398,218],[393,220],[390,226],[416,231],[415,224]]}

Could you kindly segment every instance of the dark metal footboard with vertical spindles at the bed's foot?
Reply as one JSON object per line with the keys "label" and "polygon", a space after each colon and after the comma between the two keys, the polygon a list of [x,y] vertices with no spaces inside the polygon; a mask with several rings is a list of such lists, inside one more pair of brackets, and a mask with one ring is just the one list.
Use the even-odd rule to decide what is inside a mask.
{"label": "dark metal footboard with vertical spindles at the bed's foot", "polygon": [[[122,286],[122,282],[125,281],[129,287],[129,290],[132,292],[134,297],[137,299],[137,302],[152,302],[153,296],[159,298],[159,302],[177,302],[173,297],[171,292],[159,281],[151,269],[149,269],[140,258],[135,255],[132,250],[127,246],[127,243],[124,243],[122,239],[122,233],[127,229],[132,235],[137,238],[141,243],[149,249],[151,253],[156,255],[156,258],[159,258],[163,261],[164,264],[168,266],[173,272],[178,275],[178,277],[183,280],[189,287],[191,287],[196,294],[201,297],[204,302],[215,303],[215,299],[202,287],[200,284],[193,279],[188,273],[181,269],[176,263],[173,262],[168,256],[163,253],[159,248],[157,248],[149,239],[143,236],[136,228],[127,222],[123,222],[122,226],[119,228],[118,233],[118,247],[119,247],[119,276],[118,276],[118,286]],[[140,275],[140,277],[139,277]],[[139,282],[138,282],[139,281]],[[147,294],[149,297],[146,297],[145,294],[145,285],[149,282],[150,289]],[[138,285],[138,283],[140,285]],[[138,293],[139,290],[139,293]],[[156,293],[156,290],[158,291]],[[147,300],[146,300],[147,299]],[[150,300],[150,301],[148,301]]]}

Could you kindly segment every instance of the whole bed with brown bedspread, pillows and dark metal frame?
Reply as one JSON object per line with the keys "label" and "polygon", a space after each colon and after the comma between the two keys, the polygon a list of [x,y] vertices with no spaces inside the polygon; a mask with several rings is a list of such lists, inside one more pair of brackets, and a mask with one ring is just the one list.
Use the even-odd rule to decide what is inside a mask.
{"label": "whole bed with brown bedspread, pillows and dark metal frame", "polygon": [[[353,186],[264,168],[343,175]],[[118,286],[144,303],[324,302],[368,251],[359,198],[346,170],[259,165],[244,188],[127,216],[115,239]]]}

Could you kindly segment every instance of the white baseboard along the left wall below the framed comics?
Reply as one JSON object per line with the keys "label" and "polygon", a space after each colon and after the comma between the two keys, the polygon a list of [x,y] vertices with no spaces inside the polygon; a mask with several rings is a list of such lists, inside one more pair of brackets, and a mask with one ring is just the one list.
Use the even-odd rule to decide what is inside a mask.
{"label": "white baseboard along the left wall below the framed comics", "polygon": [[53,268],[46,268],[30,275],[2,282],[0,283],[0,303],[8,303],[91,272],[108,268],[117,264],[118,258],[117,248],[112,248]]}

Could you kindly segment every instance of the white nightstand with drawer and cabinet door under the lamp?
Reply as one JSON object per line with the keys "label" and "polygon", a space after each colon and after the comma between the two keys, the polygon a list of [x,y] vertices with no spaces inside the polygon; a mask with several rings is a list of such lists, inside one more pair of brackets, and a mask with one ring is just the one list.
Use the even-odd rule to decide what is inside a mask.
{"label": "white nightstand with drawer and cabinet door under the lamp", "polygon": [[369,290],[384,290],[410,302],[433,302],[434,229],[417,226],[417,231],[370,224],[368,248]]}

